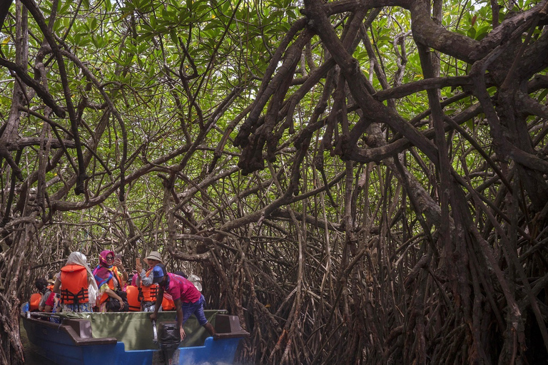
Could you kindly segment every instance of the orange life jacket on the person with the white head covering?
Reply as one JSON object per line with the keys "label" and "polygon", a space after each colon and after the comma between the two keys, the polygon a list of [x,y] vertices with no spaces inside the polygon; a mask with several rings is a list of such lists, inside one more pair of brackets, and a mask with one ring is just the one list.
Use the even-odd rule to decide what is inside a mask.
{"label": "orange life jacket on the person with the white head covering", "polygon": [[88,272],[76,264],[61,267],[61,303],[83,304],[88,298]]}

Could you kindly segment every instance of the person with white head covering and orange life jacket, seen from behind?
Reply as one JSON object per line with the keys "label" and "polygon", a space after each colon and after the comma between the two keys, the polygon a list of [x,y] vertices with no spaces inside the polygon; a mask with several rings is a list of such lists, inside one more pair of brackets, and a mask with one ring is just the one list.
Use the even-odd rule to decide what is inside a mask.
{"label": "person with white head covering and orange life jacket, seen from behind", "polygon": [[78,251],[68,255],[57,274],[53,292],[60,294],[61,312],[93,312],[98,287],[86,255]]}

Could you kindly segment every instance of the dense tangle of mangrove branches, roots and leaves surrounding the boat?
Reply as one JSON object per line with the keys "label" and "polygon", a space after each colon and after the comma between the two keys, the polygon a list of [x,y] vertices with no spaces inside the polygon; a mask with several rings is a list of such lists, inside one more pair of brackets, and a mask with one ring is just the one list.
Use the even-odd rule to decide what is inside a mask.
{"label": "dense tangle of mangrove branches, roots and leaves surrounding the boat", "polygon": [[5,362],[23,277],[103,247],[196,270],[258,364],[548,354],[546,1],[482,37],[449,1],[191,3],[0,8]]}

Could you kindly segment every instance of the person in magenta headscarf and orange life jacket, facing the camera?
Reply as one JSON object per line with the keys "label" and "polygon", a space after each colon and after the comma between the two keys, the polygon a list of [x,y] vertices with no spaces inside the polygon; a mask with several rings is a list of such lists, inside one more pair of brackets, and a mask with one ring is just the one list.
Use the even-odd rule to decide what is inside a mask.
{"label": "person in magenta headscarf and orange life jacket, facing the camera", "polygon": [[115,258],[113,251],[101,251],[99,264],[93,269],[93,277],[99,288],[98,312],[126,312],[126,302],[121,297],[121,289],[123,282],[128,279],[128,273],[123,267],[122,260],[119,257]]}

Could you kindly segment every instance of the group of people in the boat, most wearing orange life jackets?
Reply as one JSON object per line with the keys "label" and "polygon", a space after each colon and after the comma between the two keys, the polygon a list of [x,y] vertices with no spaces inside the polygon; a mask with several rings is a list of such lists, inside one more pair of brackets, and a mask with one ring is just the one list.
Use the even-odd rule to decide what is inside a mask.
{"label": "group of people in the boat, most wearing orange life jackets", "polygon": [[159,252],[151,252],[145,262],[148,269],[137,260],[129,282],[121,257],[113,251],[103,250],[93,271],[86,255],[72,252],[53,285],[44,278],[36,280],[39,289],[36,294],[40,298],[31,297],[30,309],[42,312],[152,312],[151,320],[155,320],[162,310],[176,310],[181,339],[186,336],[183,324],[192,314],[201,326],[214,334],[215,330],[203,312],[205,299],[195,284],[183,272],[167,272]]}

